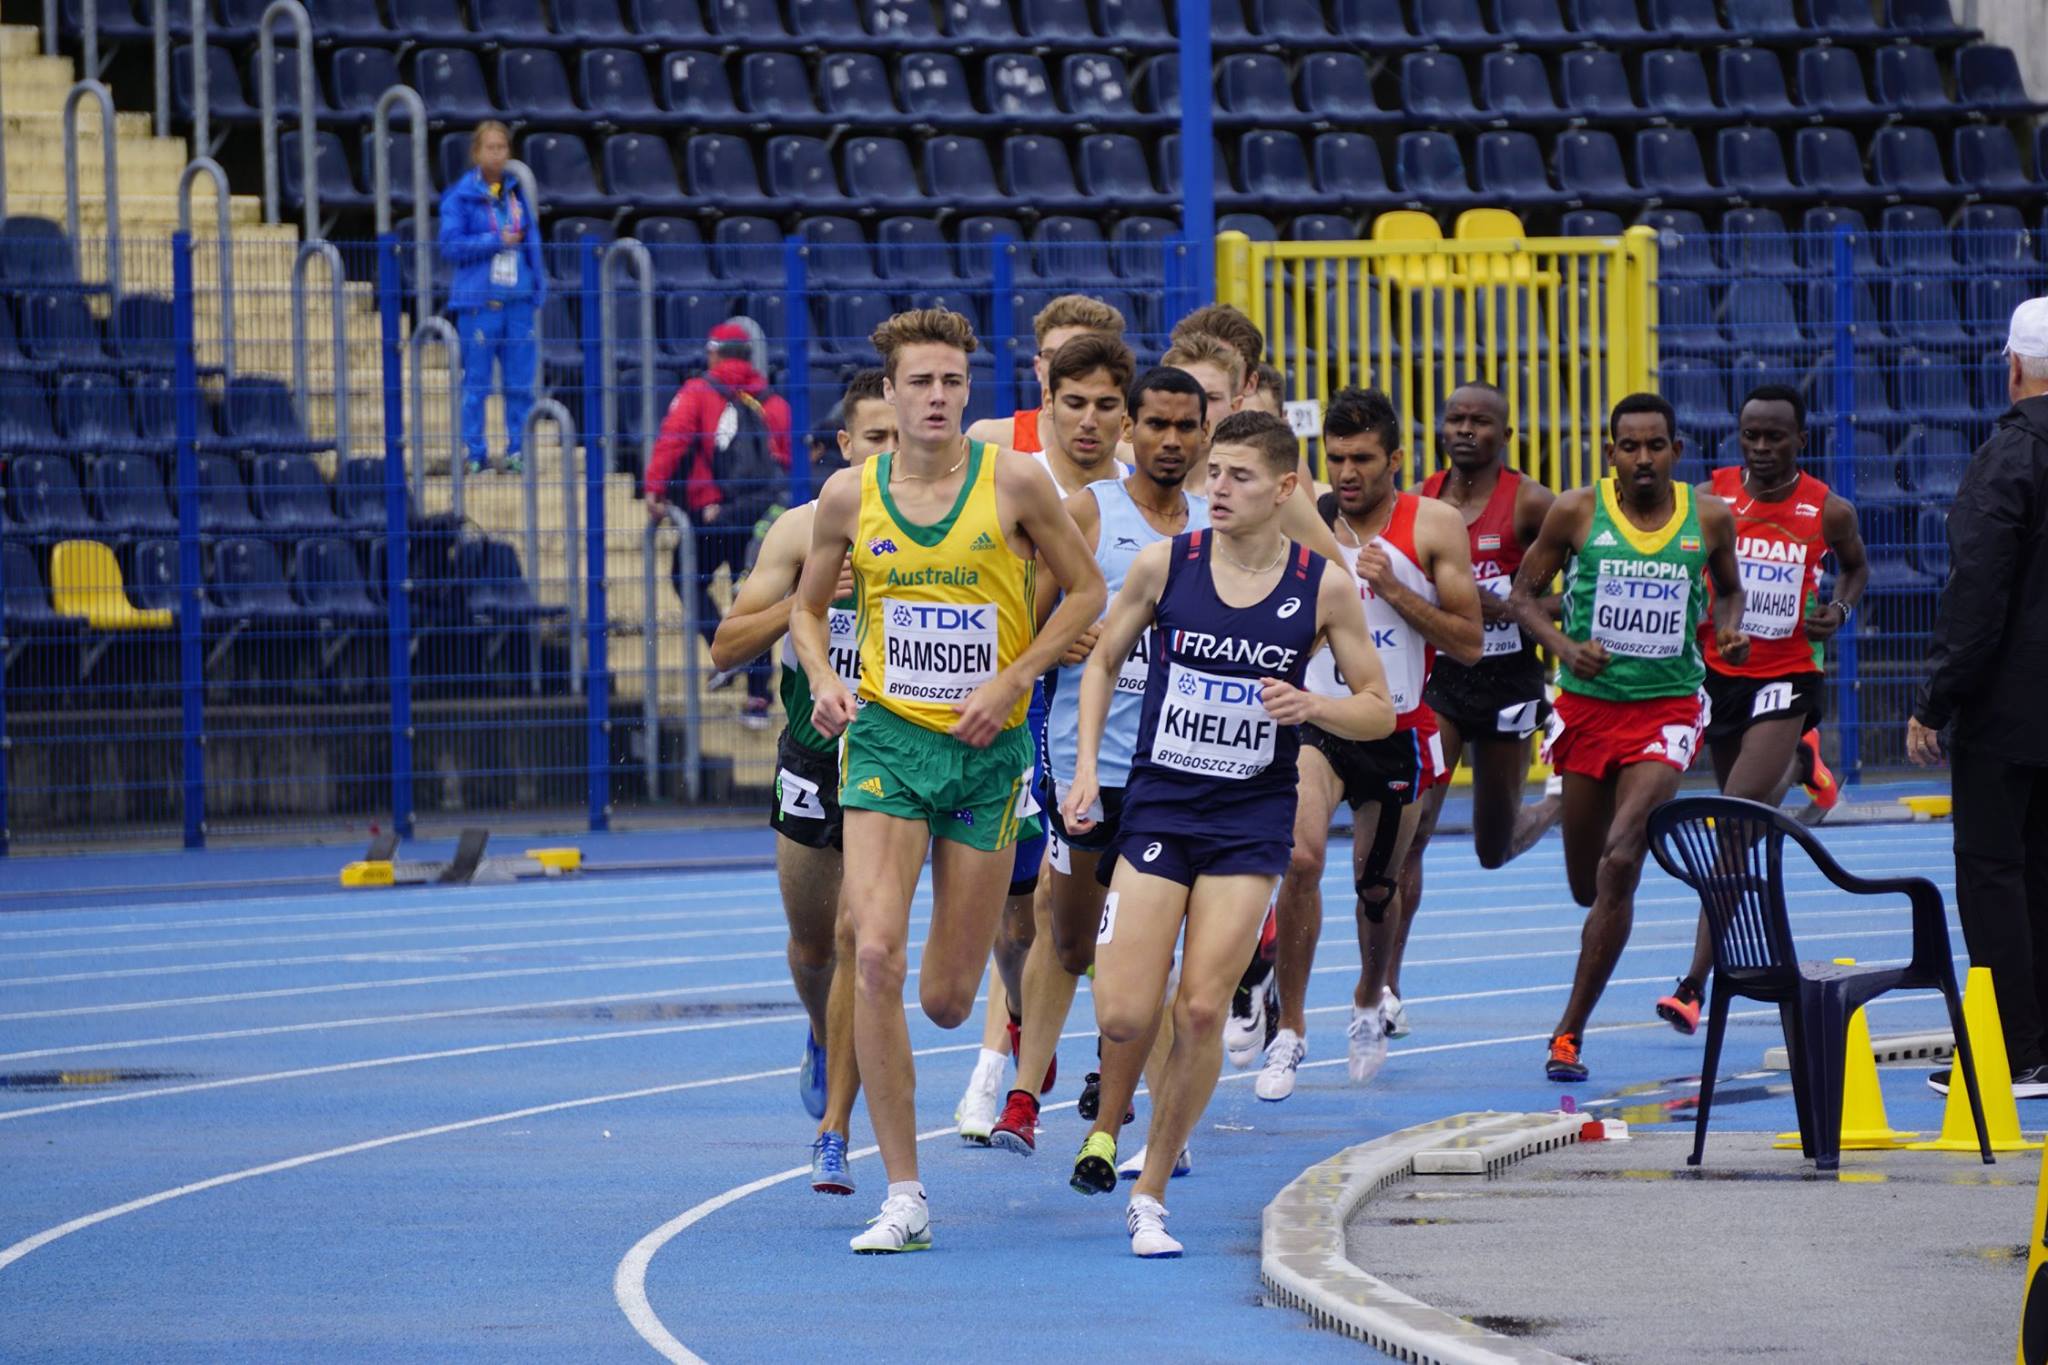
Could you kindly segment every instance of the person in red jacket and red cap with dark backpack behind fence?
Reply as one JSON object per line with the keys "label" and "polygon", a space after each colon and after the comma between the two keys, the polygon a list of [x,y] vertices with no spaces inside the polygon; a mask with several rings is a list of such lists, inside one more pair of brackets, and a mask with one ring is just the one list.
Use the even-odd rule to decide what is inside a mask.
{"label": "person in red jacket and red cap with dark backpack behind fence", "polygon": [[[662,417],[662,434],[647,456],[647,514],[668,518],[672,505],[690,514],[696,538],[696,583],[682,581],[682,548],[672,577],[676,596],[696,593],[696,628],[709,643],[719,628],[719,606],[711,579],[725,565],[737,585],[748,567],[748,546],[764,518],[786,499],[791,460],[788,403],[768,393],[760,368],[758,327],[745,319],[721,321],[711,329],[709,368],[684,381]],[[768,726],[768,655],[745,665],[748,704],[739,722],[752,731]],[[713,675],[723,688],[731,671]]]}

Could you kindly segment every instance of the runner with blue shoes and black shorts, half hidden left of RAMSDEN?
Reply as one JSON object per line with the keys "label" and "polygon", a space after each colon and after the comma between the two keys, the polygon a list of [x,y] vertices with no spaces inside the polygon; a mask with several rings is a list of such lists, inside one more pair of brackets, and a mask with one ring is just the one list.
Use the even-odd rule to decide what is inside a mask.
{"label": "runner with blue shoes and black shorts, half hidden left of RAMSDEN", "polygon": [[[840,401],[840,454],[852,469],[895,446],[895,407],[883,399],[883,372],[860,370]],[[782,641],[782,737],[776,741],[774,866],[788,917],[788,974],[811,1015],[797,1091],[815,1117],[811,1189],[854,1193],[846,1166],[860,1066],[854,1060],[852,925],[840,915],[840,747],[811,726],[811,684],[788,645],[791,589],[811,551],[817,503],[791,508],[762,538],[754,571],[711,641],[711,663],[737,669]],[[831,593],[831,663],[848,688],[860,684],[854,647],[852,569],[842,563]],[[823,1042],[819,1042],[823,1040]]]}

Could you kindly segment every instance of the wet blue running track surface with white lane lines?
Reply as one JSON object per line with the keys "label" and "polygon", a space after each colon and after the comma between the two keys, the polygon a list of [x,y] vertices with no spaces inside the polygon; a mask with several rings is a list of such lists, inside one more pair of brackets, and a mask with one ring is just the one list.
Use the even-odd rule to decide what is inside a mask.
{"label": "wet blue running track surface with white lane lines", "polygon": [[[1855,872],[1931,874],[1952,894],[1948,827],[1825,837]],[[125,874],[205,880],[207,857]],[[801,1175],[805,1017],[768,870],[14,900],[0,915],[0,1357],[631,1361],[666,1342],[678,1359],[801,1361],[981,1342],[1370,1359],[1257,1306],[1260,1207],[1352,1142],[1458,1109],[1554,1107],[1542,1044],[1581,913],[1556,839],[1501,872],[1464,839],[1432,845],[1403,972],[1415,1033],[1358,1089],[1341,1070],[1358,970],[1341,847],[1331,868],[1300,1087],[1266,1105],[1251,1072],[1225,1072],[1196,1171],[1169,1191],[1178,1263],[1128,1254],[1120,1197],[1067,1189],[1094,1056],[1085,982],[1030,1160],[950,1136],[979,1011],[942,1031],[911,1007],[934,1252],[850,1257],[883,1173],[856,1111],[860,1191],[825,1199]],[[1903,902],[1851,902],[1804,868],[1792,892],[1808,956],[1909,950]],[[1700,1040],[1651,1015],[1692,925],[1694,900],[1651,870],[1587,1038],[1593,1078],[1571,1091],[1581,1105],[1698,1068]],[[1942,1017],[1925,997],[1886,999],[1872,1027]],[[1753,1070],[1778,1042],[1774,1011],[1739,1011],[1724,1068]],[[1884,1091],[1896,1128],[1939,1126],[1919,1068],[1886,1070]],[[1716,1128],[1794,1124],[1788,1097],[1757,1095]]]}

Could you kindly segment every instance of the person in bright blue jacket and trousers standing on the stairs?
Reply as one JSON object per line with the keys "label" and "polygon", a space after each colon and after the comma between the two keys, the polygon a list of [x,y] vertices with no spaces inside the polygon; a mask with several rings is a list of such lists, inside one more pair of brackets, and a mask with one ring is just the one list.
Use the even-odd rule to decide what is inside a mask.
{"label": "person in bright blue jacket and trousers standing on the stairs", "polygon": [[539,348],[535,313],[547,297],[541,229],[518,182],[506,176],[512,131],[485,121],[469,137],[467,176],[440,196],[440,254],[455,266],[449,311],[463,338],[463,446],[469,471],[483,473],[483,401],[492,368],[504,375],[506,473],[520,473],[520,434],[532,409]]}

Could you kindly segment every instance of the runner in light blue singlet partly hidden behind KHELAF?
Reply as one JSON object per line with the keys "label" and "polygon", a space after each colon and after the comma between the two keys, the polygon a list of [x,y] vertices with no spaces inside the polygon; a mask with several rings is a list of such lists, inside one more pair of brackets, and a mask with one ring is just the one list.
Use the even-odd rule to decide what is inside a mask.
{"label": "runner in light blue singlet partly hidden behind KHELAF", "polygon": [[[1055,430],[1061,413],[1073,397],[1071,383],[1087,383],[1106,377],[1098,368],[1085,377],[1069,381],[1063,370],[1094,340],[1071,342],[1061,348],[1053,366],[1055,385]],[[1118,350],[1122,350],[1118,346]],[[1128,358],[1128,352],[1124,352]],[[1128,377],[1128,370],[1124,370]],[[1206,401],[1202,387],[1184,370],[1149,370],[1130,389],[1130,417],[1124,432],[1137,452],[1137,473],[1122,479],[1104,479],[1073,493],[1067,512],[1081,538],[1087,540],[1102,567],[1104,581],[1114,591],[1124,581],[1130,561],[1141,548],[1157,540],[1167,540],[1182,530],[1208,526],[1208,503],[1190,497],[1182,483],[1192,473],[1194,456],[1204,444]],[[1040,614],[1051,610],[1051,596],[1040,587]],[[1053,819],[1053,857],[1047,882],[1047,921],[1051,933],[1038,935],[1030,958],[1024,962],[1024,1044],[1018,1052],[1018,1074],[1036,1074],[1040,1058],[1049,1060],[1059,1048],[1059,1033],[1073,1007],[1075,980],[1096,962],[1096,923],[1102,917],[1104,888],[1096,880],[1096,862],[1114,843],[1116,810],[1122,804],[1124,776],[1130,769],[1130,747],[1137,741],[1139,706],[1145,690],[1145,647],[1141,645],[1118,673],[1116,696],[1110,702],[1110,720],[1104,737],[1098,772],[1104,784],[1102,802],[1106,814],[1087,833],[1065,831],[1059,823],[1059,792],[1073,784],[1075,737],[1079,724],[1081,663],[1096,643],[1100,622],[1090,626],[1075,641],[1065,657],[1053,688],[1053,706],[1047,724],[1047,757],[1053,778],[1053,800],[1047,808]],[[1145,1046],[1137,1050],[1143,1064]],[[1098,1085],[1100,1085],[1100,1070]],[[1120,1117],[1124,1111],[1118,1111]],[[1083,1113],[1081,1117],[1096,1117]],[[1004,1115],[995,1124],[991,1142],[1004,1150],[1028,1156],[1036,1150],[1038,1101],[1026,1091],[1010,1091]],[[1114,1130],[1112,1130],[1114,1132]]]}

